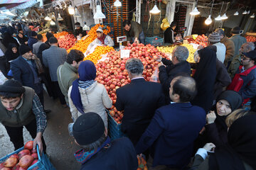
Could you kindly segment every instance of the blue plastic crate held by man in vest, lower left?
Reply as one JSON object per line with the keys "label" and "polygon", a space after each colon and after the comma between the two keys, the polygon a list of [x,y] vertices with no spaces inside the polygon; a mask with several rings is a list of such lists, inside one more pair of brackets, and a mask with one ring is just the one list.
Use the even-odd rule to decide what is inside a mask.
{"label": "blue plastic crate held by man in vest, lower left", "polygon": [[[11,157],[12,154],[18,154],[21,150],[23,150],[24,147],[21,147],[20,149],[12,152],[11,154],[6,155],[5,157],[0,159],[0,164],[5,162],[6,159]],[[28,167],[28,170],[55,170],[53,164],[50,163],[50,160],[46,156],[46,154],[42,153],[42,156],[39,154],[38,146],[36,147],[38,152],[38,162],[36,164],[33,164],[32,166]]]}

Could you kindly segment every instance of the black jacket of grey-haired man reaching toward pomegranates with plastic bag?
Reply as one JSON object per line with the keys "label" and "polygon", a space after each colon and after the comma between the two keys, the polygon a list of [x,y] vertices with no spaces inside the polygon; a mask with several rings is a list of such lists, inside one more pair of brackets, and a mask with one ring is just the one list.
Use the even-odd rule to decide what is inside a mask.
{"label": "black jacket of grey-haired man reaching toward pomegranates with plastic bag", "polygon": [[159,67],[159,81],[163,87],[164,94],[166,95],[166,100],[169,101],[169,88],[172,79],[178,75],[191,74],[191,66],[187,61],[179,62],[178,64],[173,64],[171,60],[166,60],[163,58],[161,60],[166,67]]}

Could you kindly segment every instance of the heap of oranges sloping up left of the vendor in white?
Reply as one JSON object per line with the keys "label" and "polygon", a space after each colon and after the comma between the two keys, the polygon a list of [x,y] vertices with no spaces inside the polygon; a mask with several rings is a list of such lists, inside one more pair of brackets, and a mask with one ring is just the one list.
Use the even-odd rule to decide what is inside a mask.
{"label": "heap of oranges sloping up left of the vendor in white", "polygon": [[[92,27],[88,32],[89,36],[85,40],[78,40],[78,42],[73,47],[68,49],[67,52],[70,52],[70,50],[80,50],[82,53],[85,53],[90,43],[97,38],[96,30],[99,27],[104,28],[105,26],[97,24]],[[105,33],[106,35],[110,33],[110,27],[107,26],[107,29],[103,30],[103,33]]]}

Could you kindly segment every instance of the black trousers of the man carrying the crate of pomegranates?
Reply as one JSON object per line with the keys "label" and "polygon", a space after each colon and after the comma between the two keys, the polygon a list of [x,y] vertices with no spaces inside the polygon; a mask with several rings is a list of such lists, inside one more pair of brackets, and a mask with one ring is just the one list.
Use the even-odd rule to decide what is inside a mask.
{"label": "black trousers of the man carrying the crate of pomegranates", "polygon": [[[9,127],[4,126],[6,128],[6,131],[10,137],[11,142],[13,142],[15,150],[21,148],[24,146],[23,141],[23,126],[21,127]],[[32,120],[31,123],[28,123],[28,125],[25,125],[26,129],[30,133],[31,137],[35,139],[36,137],[36,119]],[[46,142],[43,139],[42,136],[42,142],[43,142],[43,152],[46,153]]]}

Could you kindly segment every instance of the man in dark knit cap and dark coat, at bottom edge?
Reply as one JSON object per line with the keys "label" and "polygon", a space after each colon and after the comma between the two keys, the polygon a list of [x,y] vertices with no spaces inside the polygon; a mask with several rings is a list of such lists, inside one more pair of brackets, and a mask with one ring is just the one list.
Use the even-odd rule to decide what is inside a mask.
{"label": "man in dark knit cap and dark coat, at bottom edge", "polygon": [[110,141],[102,118],[97,113],[80,115],[71,128],[75,143],[82,149],[75,152],[81,170],[137,170],[138,160],[127,137]]}

